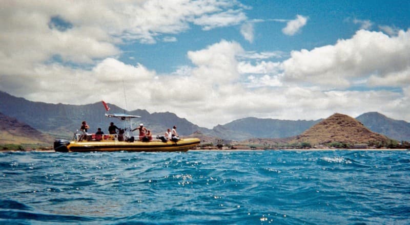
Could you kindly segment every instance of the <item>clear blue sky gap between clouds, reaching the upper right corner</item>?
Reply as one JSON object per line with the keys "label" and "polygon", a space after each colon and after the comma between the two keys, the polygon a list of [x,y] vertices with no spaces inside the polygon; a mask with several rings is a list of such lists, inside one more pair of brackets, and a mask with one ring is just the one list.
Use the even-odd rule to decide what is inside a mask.
{"label": "clear blue sky gap between clouds, reaching the upper right corner", "polygon": [[[190,62],[186,57],[188,51],[200,50],[222,38],[239,42],[247,51],[282,51],[287,54],[292,50],[313,49],[334,44],[338,39],[350,38],[367,20],[375,24],[371,30],[378,30],[379,25],[407,28],[410,23],[409,3],[406,1],[329,2],[332,1],[291,1],[291,4],[288,1],[241,1],[242,4],[252,7],[243,9],[247,20],[263,20],[251,22],[254,27],[252,42],[240,36],[240,25],[207,31],[192,26],[189,31],[159,37],[172,36],[176,38],[175,42],[148,46],[138,43],[127,44],[121,49],[130,52],[123,54],[121,60],[132,64],[135,59],[128,57],[134,56],[140,50],[147,51],[147,55],[140,55],[138,62],[156,68],[157,72],[169,73],[175,66]],[[292,20],[298,14],[308,17],[309,22],[296,35],[283,34],[281,30],[285,27],[285,22],[272,21]],[[169,55],[164,57],[164,52]],[[173,57],[175,55],[177,58]],[[159,59],[160,65],[157,63]]]}

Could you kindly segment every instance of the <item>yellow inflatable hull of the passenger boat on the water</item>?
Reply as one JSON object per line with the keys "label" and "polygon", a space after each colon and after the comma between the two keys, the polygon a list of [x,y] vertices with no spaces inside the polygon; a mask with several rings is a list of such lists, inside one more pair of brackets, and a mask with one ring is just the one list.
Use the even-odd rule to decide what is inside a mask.
{"label": "yellow inflatable hull of the passenger boat on the water", "polygon": [[[56,143],[59,142],[59,143]],[[60,152],[88,152],[88,151],[188,151],[199,145],[197,138],[181,139],[177,142],[150,141],[71,141],[61,144],[64,140],[54,142],[55,151]]]}

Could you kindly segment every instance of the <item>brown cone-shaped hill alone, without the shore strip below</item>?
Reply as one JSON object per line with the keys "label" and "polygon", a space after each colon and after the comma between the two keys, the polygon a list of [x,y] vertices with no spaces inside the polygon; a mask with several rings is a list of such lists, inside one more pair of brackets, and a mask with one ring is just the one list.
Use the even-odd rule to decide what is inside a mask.
{"label": "brown cone-shaped hill alone, without the shore strip below", "polygon": [[356,119],[336,113],[304,131],[294,142],[309,142],[313,145],[332,142],[366,144],[388,140],[385,136],[367,129]]}

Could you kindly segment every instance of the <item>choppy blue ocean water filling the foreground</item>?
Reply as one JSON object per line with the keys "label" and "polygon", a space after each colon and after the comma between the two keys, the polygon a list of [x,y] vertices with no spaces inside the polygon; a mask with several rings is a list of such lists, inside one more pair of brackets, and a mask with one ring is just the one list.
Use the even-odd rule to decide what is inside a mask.
{"label": "choppy blue ocean water filling the foreground", "polygon": [[1,152],[0,224],[410,224],[410,151]]}

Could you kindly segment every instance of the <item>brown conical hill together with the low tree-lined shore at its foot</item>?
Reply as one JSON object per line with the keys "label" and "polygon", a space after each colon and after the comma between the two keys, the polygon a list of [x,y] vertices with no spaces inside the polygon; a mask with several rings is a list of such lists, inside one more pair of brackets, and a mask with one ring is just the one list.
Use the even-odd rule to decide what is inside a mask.
{"label": "brown conical hill together with the low tree-lined shore at its foot", "polygon": [[233,142],[233,145],[255,146],[259,148],[402,148],[396,140],[389,139],[365,127],[360,121],[339,113],[320,121],[303,133],[280,139],[249,139]]}

